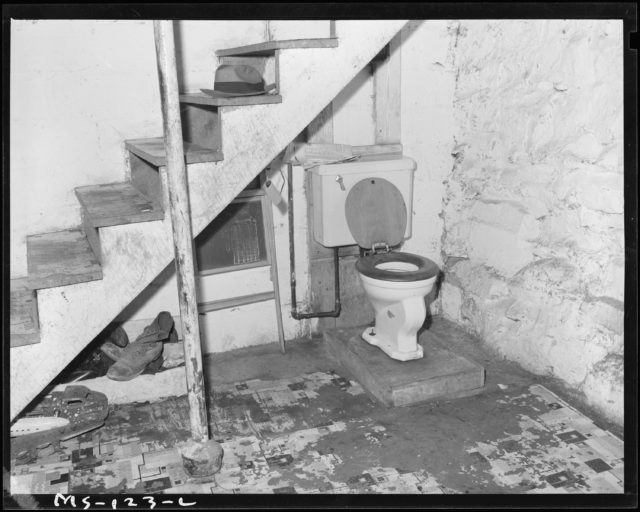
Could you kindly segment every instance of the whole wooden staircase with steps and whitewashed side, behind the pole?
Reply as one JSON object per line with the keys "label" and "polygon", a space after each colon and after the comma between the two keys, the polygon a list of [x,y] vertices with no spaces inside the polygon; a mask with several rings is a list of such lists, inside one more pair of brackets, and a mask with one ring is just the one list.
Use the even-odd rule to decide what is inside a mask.
{"label": "whole wooden staircase with steps and whitewashed side, behind the pole", "polygon": [[[338,38],[219,50],[269,94],[180,95],[194,236],[289,144],[407,20],[339,21]],[[125,141],[130,182],[80,187],[82,226],[29,236],[11,287],[11,418],[173,260],[162,137]]]}

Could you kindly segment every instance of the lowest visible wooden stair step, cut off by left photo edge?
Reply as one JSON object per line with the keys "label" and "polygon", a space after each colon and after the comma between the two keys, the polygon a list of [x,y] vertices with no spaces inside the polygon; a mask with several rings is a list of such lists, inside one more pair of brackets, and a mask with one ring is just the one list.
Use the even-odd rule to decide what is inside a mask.
{"label": "lowest visible wooden stair step, cut off by left photo edge", "polygon": [[9,342],[11,347],[40,343],[38,299],[25,280],[11,280]]}

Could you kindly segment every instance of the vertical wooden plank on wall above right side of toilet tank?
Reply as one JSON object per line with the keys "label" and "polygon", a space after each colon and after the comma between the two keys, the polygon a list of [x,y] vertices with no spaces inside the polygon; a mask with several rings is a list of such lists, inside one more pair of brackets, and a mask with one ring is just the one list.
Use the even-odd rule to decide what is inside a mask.
{"label": "vertical wooden plank on wall above right side of toilet tank", "polygon": [[389,43],[389,55],[374,64],[374,118],[376,144],[400,142],[400,46],[402,33]]}

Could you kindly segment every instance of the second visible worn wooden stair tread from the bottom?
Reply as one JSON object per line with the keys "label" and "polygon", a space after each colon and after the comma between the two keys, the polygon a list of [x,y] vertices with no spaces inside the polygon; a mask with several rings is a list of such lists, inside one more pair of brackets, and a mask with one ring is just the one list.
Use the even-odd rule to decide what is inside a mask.
{"label": "second visible worn wooden stair tread from the bottom", "polygon": [[33,289],[102,279],[100,263],[79,229],[28,236],[27,268]]}

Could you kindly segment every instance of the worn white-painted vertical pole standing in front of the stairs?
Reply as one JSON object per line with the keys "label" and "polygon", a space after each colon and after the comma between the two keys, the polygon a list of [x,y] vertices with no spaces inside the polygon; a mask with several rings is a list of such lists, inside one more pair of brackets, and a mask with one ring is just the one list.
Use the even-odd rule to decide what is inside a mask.
{"label": "worn white-painted vertical pole standing in front of the stairs", "polygon": [[195,267],[193,260],[193,232],[187,173],[182,143],[182,124],[178,100],[173,22],[154,21],[153,32],[158,60],[162,123],[167,154],[169,211],[173,227],[173,247],[178,277],[178,300],[184,337],[184,362],[189,399],[189,420],[194,441],[209,439],[207,405],[204,397],[202,349],[198,325]]}

